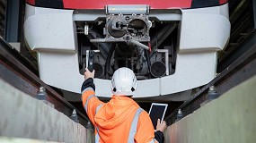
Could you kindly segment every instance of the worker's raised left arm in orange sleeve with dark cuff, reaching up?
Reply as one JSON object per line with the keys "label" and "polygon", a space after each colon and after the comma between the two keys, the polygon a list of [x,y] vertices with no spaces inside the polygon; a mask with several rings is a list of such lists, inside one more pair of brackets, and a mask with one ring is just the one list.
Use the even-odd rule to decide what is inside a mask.
{"label": "worker's raised left arm in orange sleeve with dark cuff, reaching up", "polygon": [[93,83],[94,72],[94,70],[91,72],[88,69],[85,69],[84,83],[81,88],[84,110],[93,125],[96,109],[99,105],[103,104],[103,102],[95,96],[95,85]]}

